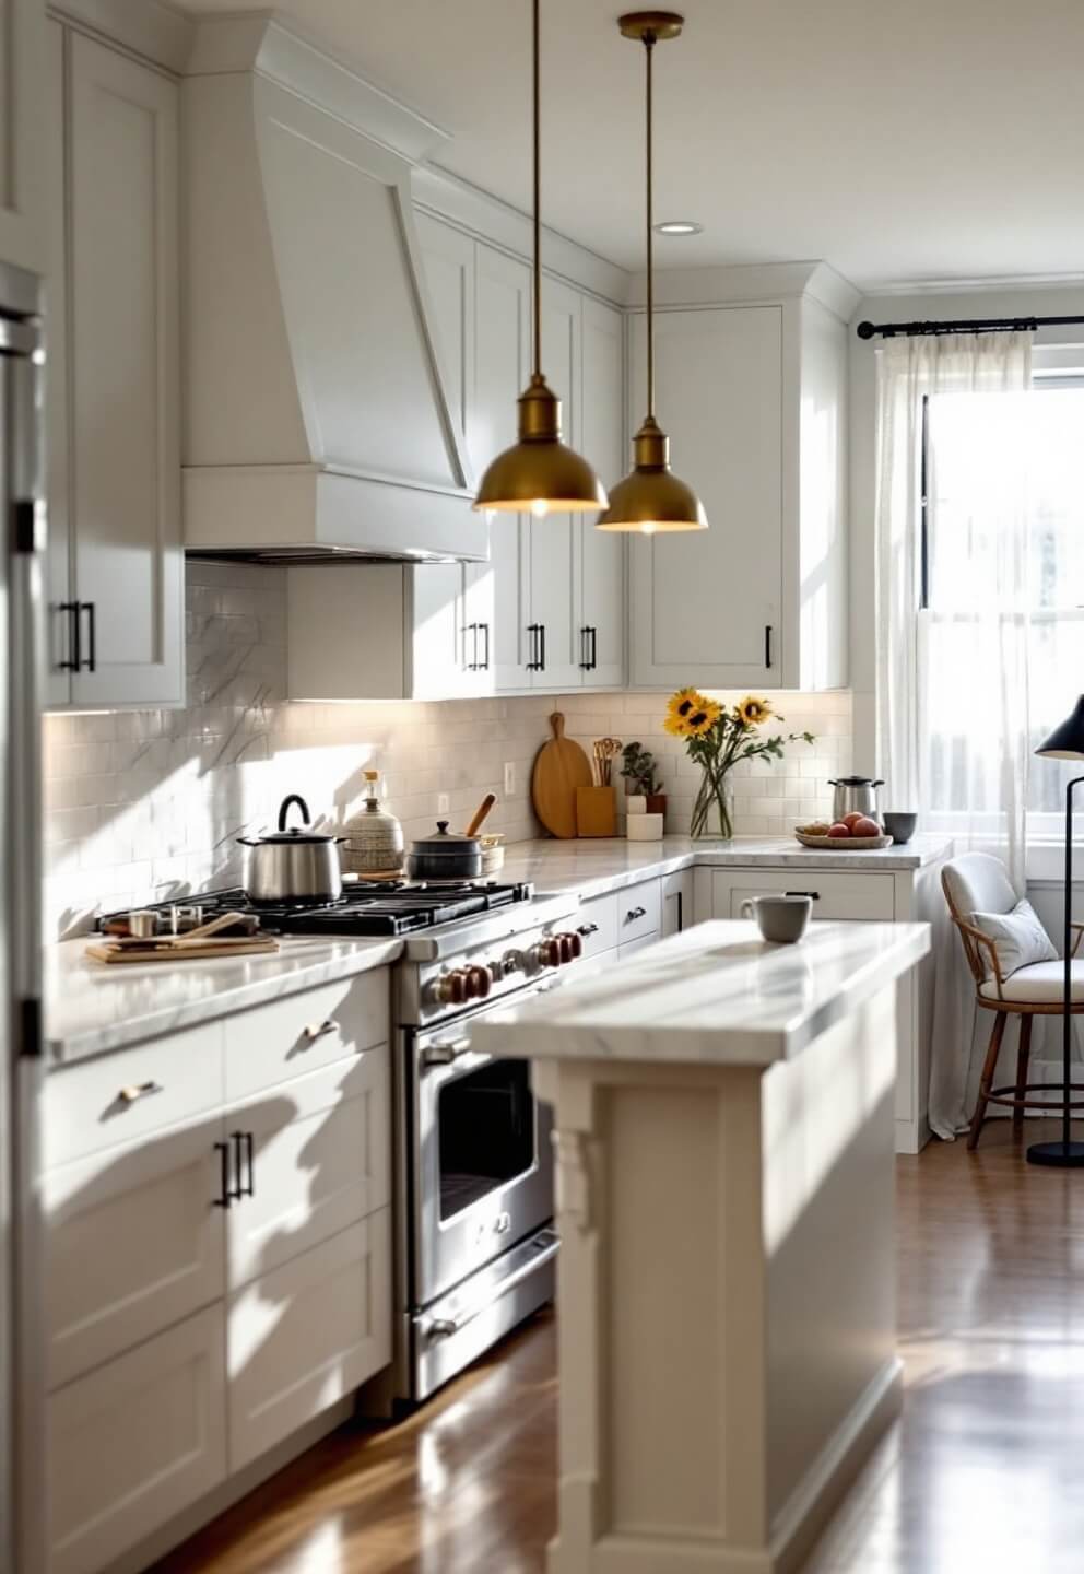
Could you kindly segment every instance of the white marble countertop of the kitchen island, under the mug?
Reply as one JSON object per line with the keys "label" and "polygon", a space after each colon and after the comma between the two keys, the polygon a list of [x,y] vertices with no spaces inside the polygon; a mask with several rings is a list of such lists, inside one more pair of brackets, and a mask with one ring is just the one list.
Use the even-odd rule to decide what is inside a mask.
{"label": "white marble countertop of the kitchen island, under the mug", "polygon": [[475,1048],[529,1059],[769,1066],[791,1059],[930,949],[928,924],[813,922],[772,946],[711,921],[472,1023]]}

